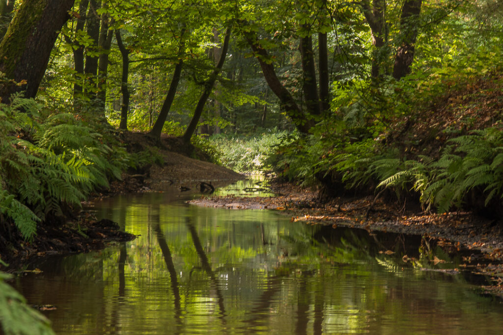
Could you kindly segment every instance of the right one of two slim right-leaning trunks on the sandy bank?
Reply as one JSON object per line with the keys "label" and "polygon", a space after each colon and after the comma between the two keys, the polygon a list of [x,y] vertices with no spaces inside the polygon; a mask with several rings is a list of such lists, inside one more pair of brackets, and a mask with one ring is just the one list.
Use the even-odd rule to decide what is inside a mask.
{"label": "right one of two slim right-leaning trunks on the sandy bank", "polygon": [[196,131],[197,128],[197,124],[199,123],[199,119],[201,118],[201,114],[203,113],[203,108],[204,105],[206,104],[206,100],[210,96],[211,90],[213,88],[213,85],[215,84],[218,73],[220,73],[220,70],[222,69],[225,57],[227,56],[227,49],[229,48],[230,31],[231,31],[230,27],[227,28],[227,30],[225,31],[225,37],[222,44],[222,52],[220,54],[218,64],[216,65],[215,69],[211,73],[208,80],[206,80],[206,82],[204,83],[204,90],[203,93],[201,94],[201,97],[199,98],[199,101],[197,102],[196,109],[194,110],[194,116],[192,117],[192,120],[189,123],[187,130],[182,136],[182,139],[185,143],[190,143],[190,139],[192,138],[192,135],[194,135],[194,132]]}

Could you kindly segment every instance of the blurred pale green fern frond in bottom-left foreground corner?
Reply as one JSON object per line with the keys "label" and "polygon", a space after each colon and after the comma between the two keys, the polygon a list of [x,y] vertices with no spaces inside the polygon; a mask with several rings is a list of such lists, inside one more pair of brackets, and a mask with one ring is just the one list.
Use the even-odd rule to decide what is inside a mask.
{"label": "blurred pale green fern frond in bottom-left foreground corner", "polygon": [[0,273],[0,324],[6,335],[54,334],[49,320],[31,308],[26,299],[5,280],[12,276]]}

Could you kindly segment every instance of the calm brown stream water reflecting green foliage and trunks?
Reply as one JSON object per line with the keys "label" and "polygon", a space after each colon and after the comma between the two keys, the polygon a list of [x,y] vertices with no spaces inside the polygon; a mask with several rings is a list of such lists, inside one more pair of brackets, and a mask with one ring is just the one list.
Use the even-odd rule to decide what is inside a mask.
{"label": "calm brown stream water reflecting green foliage and trunks", "polygon": [[[498,334],[503,305],[421,237],[322,229],[266,210],[201,208],[177,192],[96,204],[136,240],[53,258],[15,286],[59,334]],[[187,195],[190,197],[190,195]],[[393,250],[386,255],[379,251]],[[422,253],[420,253],[420,250]],[[434,266],[437,256],[447,263]]]}

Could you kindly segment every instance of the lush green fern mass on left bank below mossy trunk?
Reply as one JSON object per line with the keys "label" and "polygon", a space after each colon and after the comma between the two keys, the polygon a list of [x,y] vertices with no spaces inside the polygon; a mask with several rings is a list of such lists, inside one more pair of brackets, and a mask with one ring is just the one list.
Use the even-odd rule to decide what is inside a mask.
{"label": "lush green fern mass on left bank below mossy trunk", "polygon": [[47,114],[29,99],[0,104],[0,214],[25,239],[37,222],[80,206],[130,163],[124,149],[102,143],[89,124],[67,113]]}

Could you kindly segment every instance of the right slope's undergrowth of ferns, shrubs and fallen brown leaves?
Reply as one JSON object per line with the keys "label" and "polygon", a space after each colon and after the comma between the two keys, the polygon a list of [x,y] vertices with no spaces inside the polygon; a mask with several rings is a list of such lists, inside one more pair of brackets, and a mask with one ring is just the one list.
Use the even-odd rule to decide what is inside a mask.
{"label": "right slope's undergrowth of ferns, shrubs and fallen brown leaves", "polygon": [[[461,94],[461,101],[467,99],[459,83],[452,91],[442,92],[440,88],[445,88],[445,84],[439,84],[439,90],[432,89],[428,94],[423,92],[420,99],[414,98],[417,87],[427,85],[428,80],[423,78],[413,88],[406,81],[391,83],[396,90],[394,98],[390,99],[388,95],[392,93],[386,92],[383,101],[392,100],[393,106],[378,98],[367,101],[366,106],[360,98],[353,99],[356,106],[342,108],[341,116],[321,122],[312,134],[283,138],[269,161],[274,162],[280,175],[302,184],[325,183],[328,177],[353,192],[377,194],[389,188],[397,198],[412,195],[420,199],[426,210],[486,208],[493,215],[499,213],[503,207],[500,112],[485,107],[484,92],[470,97],[477,104],[457,107],[452,102],[458,100],[455,94]],[[484,85],[499,85],[498,78],[491,84],[487,74],[484,80]],[[465,85],[473,91],[474,79],[466,82],[471,82]],[[443,95],[450,98],[443,99]],[[433,105],[435,113],[442,110],[445,118],[435,115],[430,120],[421,119],[429,113],[432,101],[438,104]],[[446,103],[450,103],[448,107]],[[417,108],[415,113],[407,110],[411,105]],[[479,105],[479,109],[474,105]],[[481,110],[483,107],[486,109]],[[386,108],[392,109],[387,115],[382,112]],[[451,109],[458,114],[453,117]],[[484,115],[492,126],[484,128],[482,120],[473,122],[477,114]],[[402,121],[404,116],[409,120],[408,128]],[[430,125],[439,120],[445,120],[442,126],[436,126],[439,128]]]}

